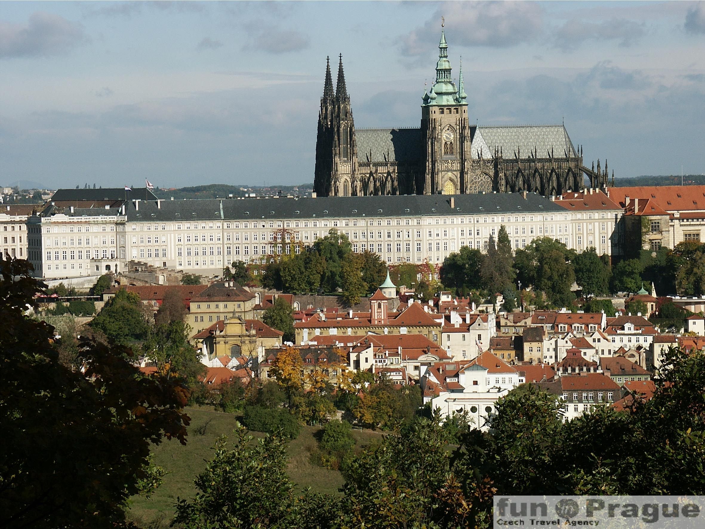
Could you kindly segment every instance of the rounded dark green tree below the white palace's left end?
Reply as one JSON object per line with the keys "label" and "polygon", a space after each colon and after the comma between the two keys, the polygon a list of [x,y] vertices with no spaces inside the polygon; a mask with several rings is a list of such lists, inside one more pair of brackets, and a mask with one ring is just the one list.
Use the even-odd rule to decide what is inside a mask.
{"label": "rounded dark green tree below the white palace's left end", "polygon": [[127,345],[131,341],[145,339],[149,326],[142,310],[140,296],[118,290],[90,322],[90,327],[99,330],[111,343]]}

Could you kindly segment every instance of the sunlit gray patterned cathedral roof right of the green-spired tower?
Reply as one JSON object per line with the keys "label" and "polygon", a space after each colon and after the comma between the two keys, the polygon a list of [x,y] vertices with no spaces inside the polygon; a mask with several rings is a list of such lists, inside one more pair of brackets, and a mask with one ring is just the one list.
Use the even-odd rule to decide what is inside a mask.
{"label": "sunlit gray patterned cathedral roof right of the green-spired tower", "polygon": [[566,152],[571,157],[577,156],[568,130],[565,130],[563,125],[477,126],[470,153],[473,159],[479,159],[481,147],[484,158],[491,157],[495,147],[502,147],[505,159],[513,158],[517,147],[523,158],[528,157],[534,148],[539,158],[546,158],[551,149],[553,155],[558,158],[565,157]]}

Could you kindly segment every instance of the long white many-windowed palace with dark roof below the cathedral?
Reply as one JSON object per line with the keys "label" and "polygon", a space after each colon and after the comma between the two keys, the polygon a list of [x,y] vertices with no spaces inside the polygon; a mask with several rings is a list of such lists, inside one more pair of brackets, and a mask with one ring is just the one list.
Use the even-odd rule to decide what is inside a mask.
{"label": "long white many-windowed palace with dark roof below the cathedral", "polygon": [[594,195],[604,197],[606,207],[588,207],[580,199],[580,207],[567,209],[565,197],[553,200],[534,193],[51,206],[27,219],[27,255],[44,279],[121,272],[129,261],[219,276],[235,260],[264,264],[273,255],[300,253],[337,229],[348,236],[354,252],[372,251],[390,264],[440,265],[462,246],[486,250],[501,226],[513,249],[548,236],[577,251],[595,247],[599,255],[611,255],[622,210],[612,207],[601,191]]}

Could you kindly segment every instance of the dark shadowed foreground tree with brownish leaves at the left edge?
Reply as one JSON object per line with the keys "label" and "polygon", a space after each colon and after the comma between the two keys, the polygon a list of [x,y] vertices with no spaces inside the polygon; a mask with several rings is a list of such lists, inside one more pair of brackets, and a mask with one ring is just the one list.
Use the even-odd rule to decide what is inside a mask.
{"label": "dark shadowed foreground tree with brownish leaves at the left edge", "polygon": [[86,339],[81,369],[63,365],[54,329],[24,314],[45,287],[30,270],[0,260],[0,524],[123,526],[128,497],[150,481],[150,446],[185,443],[188,390]]}

